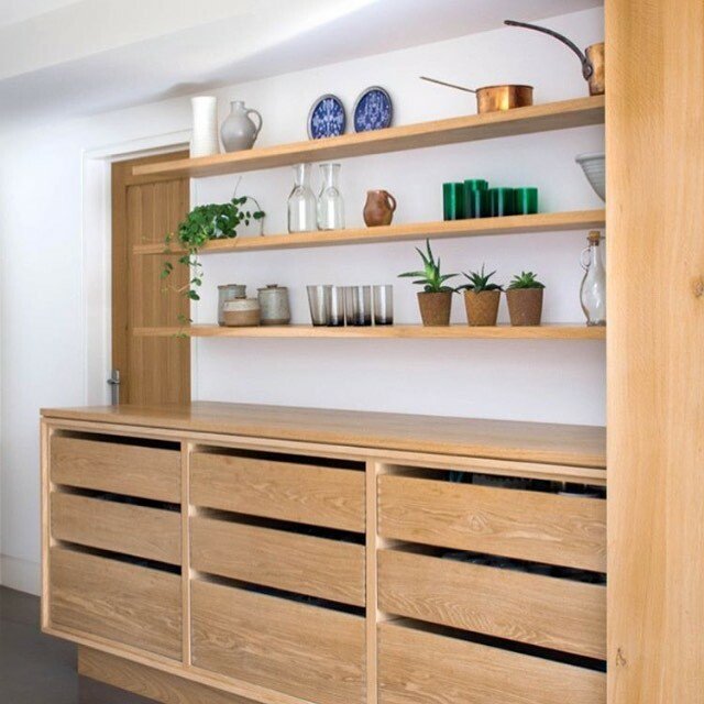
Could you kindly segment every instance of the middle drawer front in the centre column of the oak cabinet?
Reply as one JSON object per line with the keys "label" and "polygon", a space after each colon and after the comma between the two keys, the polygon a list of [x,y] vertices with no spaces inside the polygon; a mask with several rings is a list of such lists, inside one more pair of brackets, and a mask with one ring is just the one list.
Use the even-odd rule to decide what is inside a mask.
{"label": "middle drawer front in the centre column of the oak cabinet", "polygon": [[213,518],[190,526],[199,572],[364,606],[362,546]]}

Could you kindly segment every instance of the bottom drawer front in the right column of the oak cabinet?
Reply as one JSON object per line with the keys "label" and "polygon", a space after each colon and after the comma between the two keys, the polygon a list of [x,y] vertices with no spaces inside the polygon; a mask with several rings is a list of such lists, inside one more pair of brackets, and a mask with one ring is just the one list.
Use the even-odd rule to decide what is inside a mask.
{"label": "bottom drawer front in the right column of the oak cabinet", "polygon": [[380,626],[380,704],[605,704],[606,675],[393,624]]}

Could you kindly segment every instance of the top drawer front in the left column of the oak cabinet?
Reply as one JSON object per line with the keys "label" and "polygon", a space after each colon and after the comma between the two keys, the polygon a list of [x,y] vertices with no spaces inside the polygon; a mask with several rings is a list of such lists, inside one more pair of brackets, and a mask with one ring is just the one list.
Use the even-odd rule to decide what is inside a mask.
{"label": "top drawer front in the left column of the oak cabinet", "polygon": [[176,450],[54,436],[50,466],[55,484],[180,503]]}

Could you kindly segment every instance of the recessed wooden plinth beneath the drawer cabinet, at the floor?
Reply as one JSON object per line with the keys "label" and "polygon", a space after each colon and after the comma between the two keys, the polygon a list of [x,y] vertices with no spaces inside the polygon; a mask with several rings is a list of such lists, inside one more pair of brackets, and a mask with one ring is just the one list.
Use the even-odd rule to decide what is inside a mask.
{"label": "recessed wooden plinth beneath the drawer cabinet, at the floor", "polygon": [[254,704],[254,700],[82,646],[78,673],[162,704]]}

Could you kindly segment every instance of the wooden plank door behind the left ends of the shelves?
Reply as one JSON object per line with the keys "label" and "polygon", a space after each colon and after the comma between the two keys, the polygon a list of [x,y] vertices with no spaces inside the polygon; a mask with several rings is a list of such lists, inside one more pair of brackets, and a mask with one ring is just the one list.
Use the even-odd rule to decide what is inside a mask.
{"label": "wooden plank door behind the left ends of the shelves", "polygon": [[188,282],[188,271],[177,257],[169,257],[174,272],[165,283],[160,277],[164,256],[132,253],[134,244],[164,242],[190,207],[187,178],[132,176],[135,164],[151,161],[165,160],[161,154],[112,165],[112,367],[120,371],[122,404],[188,403],[189,339],[132,333],[139,327],[178,324],[179,315],[189,311],[176,290]]}

